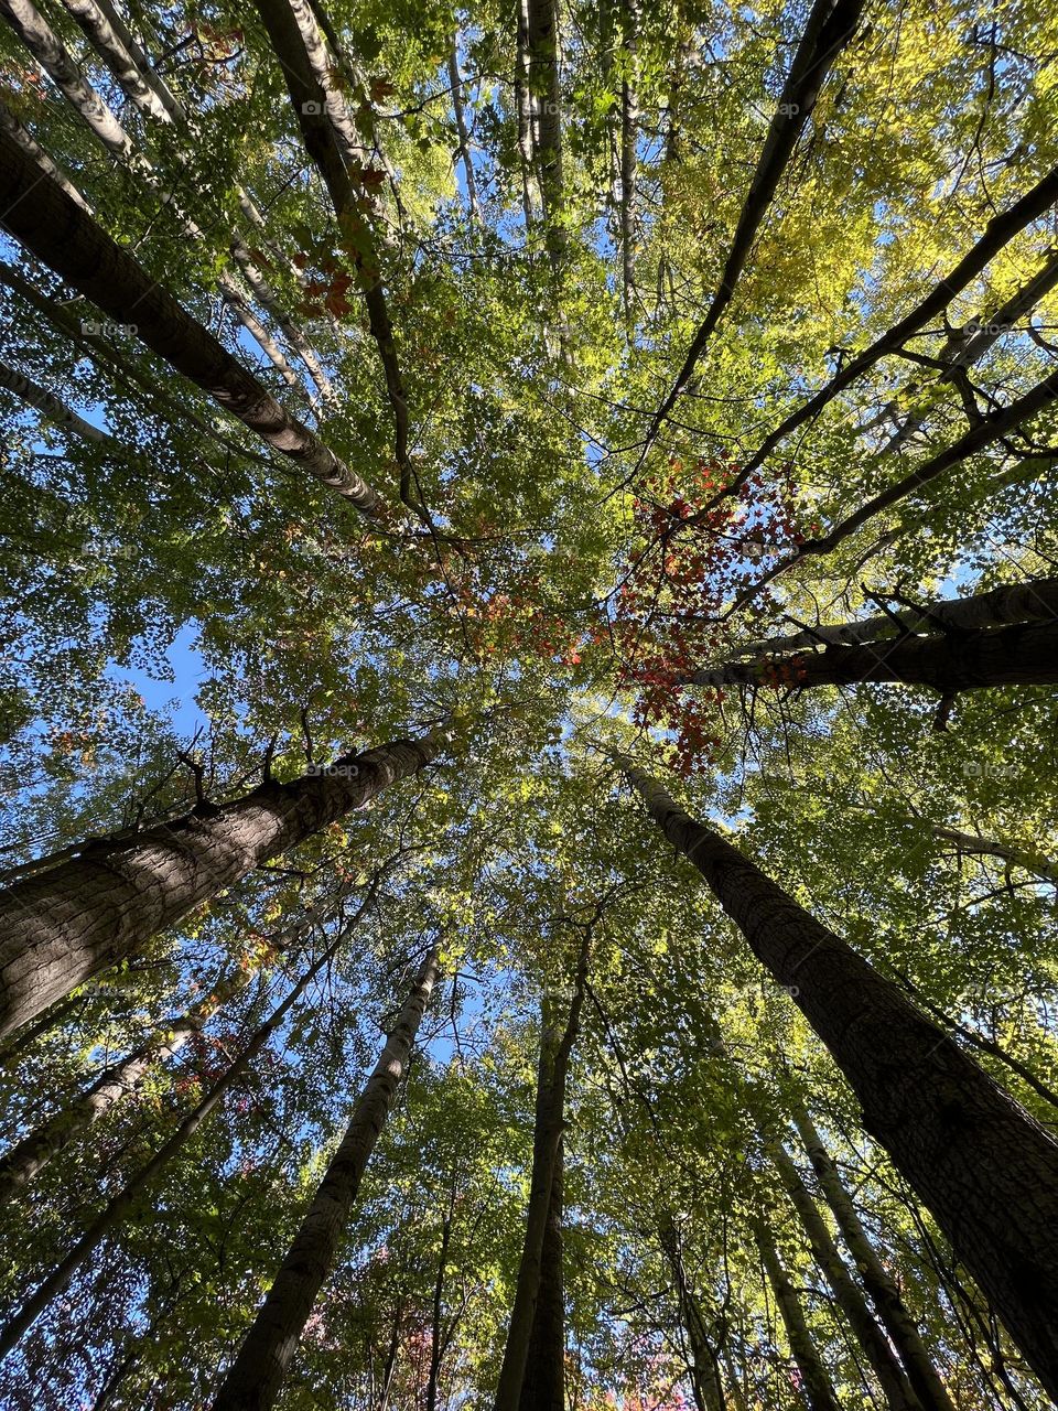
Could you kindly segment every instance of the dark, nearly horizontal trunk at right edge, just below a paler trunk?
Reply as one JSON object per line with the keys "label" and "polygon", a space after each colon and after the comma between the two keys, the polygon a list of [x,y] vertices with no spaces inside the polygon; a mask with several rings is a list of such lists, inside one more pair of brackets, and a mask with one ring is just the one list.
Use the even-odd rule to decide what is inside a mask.
{"label": "dark, nearly horizontal trunk at right edge, just below a paler trunk", "polygon": [[1054,686],[1058,683],[1058,618],[729,662],[680,679],[683,686],[746,684],[783,690],[866,682],[928,686],[942,696],[989,686]]}

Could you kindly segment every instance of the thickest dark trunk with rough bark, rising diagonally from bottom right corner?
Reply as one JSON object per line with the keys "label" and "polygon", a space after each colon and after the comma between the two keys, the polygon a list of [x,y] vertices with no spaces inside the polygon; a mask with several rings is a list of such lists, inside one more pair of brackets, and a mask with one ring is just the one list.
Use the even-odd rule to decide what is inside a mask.
{"label": "thickest dark trunk with rough bark, rising diagonally from bottom right corner", "polygon": [[863,1110],[1051,1395],[1058,1395],[1058,1143],[861,955],[622,761],[758,959],[789,986]]}

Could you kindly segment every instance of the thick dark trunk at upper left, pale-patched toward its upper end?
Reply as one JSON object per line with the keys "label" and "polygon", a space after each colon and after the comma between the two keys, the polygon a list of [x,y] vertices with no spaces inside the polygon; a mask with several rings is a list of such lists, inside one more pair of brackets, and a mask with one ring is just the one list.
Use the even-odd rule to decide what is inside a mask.
{"label": "thick dark trunk at upper left, pale-patched toward its upper end", "polygon": [[274,450],[364,514],[382,509],[378,494],[190,317],[155,279],[82,210],[6,133],[0,133],[3,226],[99,309],[135,333],[151,351],[207,392]]}

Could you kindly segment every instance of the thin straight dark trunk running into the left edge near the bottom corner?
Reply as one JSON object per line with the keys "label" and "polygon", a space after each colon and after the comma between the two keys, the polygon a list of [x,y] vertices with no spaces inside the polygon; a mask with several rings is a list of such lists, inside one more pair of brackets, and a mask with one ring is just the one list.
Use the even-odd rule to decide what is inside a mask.
{"label": "thin straight dark trunk running into the left edge near the bottom corner", "polygon": [[45,1280],[42,1280],[21,1308],[11,1315],[7,1324],[4,1324],[0,1329],[0,1357],[6,1357],[7,1353],[18,1343],[52,1298],[58,1298],[80,1266],[86,1260],[92,1259],[106,1236],[124,1221],[126,1215],[128,1215],[130,1209],[135,1205],[142,1191],[151,1187],[158,1177],[162,1175],[169,1161],[183,1150],[190,1137],[195,1136],[206,1118],[209,1118],[217,1103],[223,1099],[224,1094],[234,1086],[234,1084],[248,1070],[251,1061],[261,1053],[272,1034],[275,1034],[286,1015],[291,1009],[293,1009],[312,981],[334,959],[334,955],[341,948],[351,924],[353,923],[341,928],[336,940],[324,948],[319,959],[315,961],[302,975],[286,999],[284,999],[282,1003],[272,1010],[264,1024],[254,1031],[243,1051],[220,1075],[220,1078],[217,1078],[205,1098],[189,1113],[186,1113],[185,1118],[181,1119],[169,1140],[161,1146],[147,1165],[141,1167],[135,1175],[133,1175],[121,1187],[117,1195],[107,1202],[106,1208],[96,1216],[80,1239],[72,1246],[62,1263],[58,1264]]}

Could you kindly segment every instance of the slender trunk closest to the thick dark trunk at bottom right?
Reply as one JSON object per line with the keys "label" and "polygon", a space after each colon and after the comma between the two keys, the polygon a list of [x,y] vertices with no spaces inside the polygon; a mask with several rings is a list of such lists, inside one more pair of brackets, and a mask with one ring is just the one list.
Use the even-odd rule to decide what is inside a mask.
{"label": "slender trunk closest to the thick dark trunk at bottom right", "polygon": [[893,1346],[900,1353],[900,1360],[907,1369],[908,1380],[924,1411],[955,1411],[914,1318],[911,1318],[900,1290],[886,1271],[875,1246],[868,1239],[852,1204],[852,1197],[845,1189],[841,1174],[800,1098],[790,1099],[790,1112],[820,1181],[820,1188],[838,1222],[842,1239],[856,1261],[856,1268],[886,1332],[893,1339]]}

